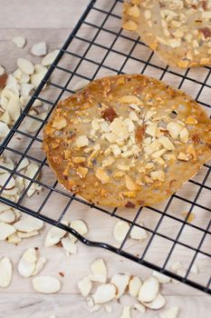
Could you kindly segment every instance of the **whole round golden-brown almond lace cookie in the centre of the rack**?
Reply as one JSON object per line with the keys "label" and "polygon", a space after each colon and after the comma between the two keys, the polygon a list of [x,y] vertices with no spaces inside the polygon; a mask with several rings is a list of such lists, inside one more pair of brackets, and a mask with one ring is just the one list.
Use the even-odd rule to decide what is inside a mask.
{"label": "whole round golden-brown almond lace cookie in the centre of the rack", "polygon": [[154,78],[104,77],[57,104],[43,150],[59,182],[91,203],[156,204],[211,157],[211,120]]}

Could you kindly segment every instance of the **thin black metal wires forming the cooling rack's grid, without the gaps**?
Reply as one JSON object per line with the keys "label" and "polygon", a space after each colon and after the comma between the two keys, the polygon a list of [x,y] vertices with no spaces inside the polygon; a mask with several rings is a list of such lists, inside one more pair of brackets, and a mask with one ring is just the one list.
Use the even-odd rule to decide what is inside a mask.
{"label": "thin black metal wires forming the cooling rack's grid, without the gaps", "polygon": [[[115,74],[124,74],[124,67],[127,65],[128,61],[131,60],[134,62],[139,62],[139,63],[144,65],[144,67],[141,71],[142,74],[145,74],[145,72],[148,70],[148,67],[150,66],[150,67],[153,67],[161,72],[161,75],[159,76],[160,80],[162,80],[166,74],[177,76],[177,78],[180,80],[179,84],[178,84],[178,88],[182,87],[182,85],[184,84],[184,82],[186,80],[190,81],[191,83],[198,84],[200,86],[200,88],[197,92],[196,100],[199,101],[200,104],[202,104],[208,108],[211,107],[210,104],[207,104],[207,103],[204,103],[203,101],[200,101],[200,97],[201,97],[201,94],[203,94],[204,88],[209,89],[211,92],[211,84],[207,83],[208,79],[210,78],[210,75],[211,75],[210,67],[204,67],[204,69],[207,71],[207,75],[206,75],[205,80],[201,81],[198,78],[191,77],[189,70],[187,70],[185,72],[185,74],[183,75],[183,74],[180,74],[179,71],[177,71],[177,70],[169,69],[168,66],[156,65],[152,61],[152,58],[154,56],[153,52],[149,53],[149,57],[147,58],[147,60],[145,60],[143,58],[143,56],[141,56],[141,55],[139,56],[139,58],[135,57],[133,55],[135,48],[141,47],[141,46],[147,47],[145,44],[143,44],[140,41],[139,37],[132,38],[132,37],[129,37],[129,34],[126,34],[120,28],[118,30],[116,30],[116,29],[109,29],[106,26],[106,24],[110,18],[112,18],[114,20],[118,19],[119,24],[120,24],[120,15],[118,15],[116,12],[114,13],[114,10],[116,9],[117,5],[120,5],[122,3],[122,0],[110,0],[108,2],[110,4],[109,9],[108,8],[104,9],[103,7],[101,7],[101,3],[102,2],[99,0],[91,0],[90,4],[87,6],[82,17],[80,18],[78,24],[74,27],[72,34],[68,37],[68,39],[66,40],[66,42],[62,46],[59,54],[57,55],[57,57],[53,61],[53,65],[50,66],[48,72],[46,73],[46,75],[44,75],[43,81],[38,86],[34,95],[31,98],[31,100],[25,106],[24,111],[22,112],[22,114],[20,115],[20,117],[18,118],[18,120],[16,121],[14,126],[12,127],[9,134],[5,137],[4,142],[1,144],[0,154],[5,154],[5,152],[7,152],[10,154],[18,155],[19,160],[15,164],[13,170],[0,164],[0,168],[5,169],[5,171],[7,171],[10,174],[10,176],[6,180],[4,186],[2,186],[2,188],[0,189],[0,202],[3,202],[5,204],[9,204],[10,206],[14,207],[15,209],[18,209],[26,214],[33,215],[33,216],[35,216],[35,217],[37,217],[37,218],[39,218],[39,219],[41,219],[49,224],[53,224],[55,226],[60,227],[64,230],[68,231],[69,233],[75,235],[82,243],[85,243],[85,244],[90,245],[90,246],[98,246],[98,247],[107,249],[110,252],[118,253],[118,254],[128,258],[131,261],[145,265],[145,266],[147,266],[153,270],[156,270],[160,273],[165,273],[168,276],[172,277],[173,279],[176,279],[176,280],[183,282],[183,283],[187,283],[188,285],[193,286],[193,287],[197,288],[198,290],[201,290],[205,293],[211,294],[211,288],[210,288],[211,277],[209,277],[209,279],[207,280],[206,283],[204,283],[204,282],[197,283],[192,278],[191,279],[189,278],[189,273],[191,272],[191,268],[192,268],[193,264],[196,262],[197,256],[201,255],[203,257],[206,257],[207,259],[209,259],[209,262],[211,262],[210,261],[211,260],[211,253],[208,253],[207,251],[204,251],[202,249],[203,243],[206,240],[206,236],[211,235],[211,229],[210,229],[210,227],[211,227],[211,207],[207,206],[207,204],[204,204],[204,203],[202,204],[201,202],[198,202],[198,198],[204,189],[206,191],[211,190],[211,187],[208,184],[206,184],[206,181],[207,181],[207,179],[210,175],[210,171],[211,171],[210,164],[204,164],[204,166],[206,167],[206,174],[205,174],[204,180],[202,182],[195,181],[194,179],[188,181],[189,184],[194,184],[195,186],[197,186],[197,193],[195,195],[194,200],[190,200],[187,197],[183,197],[179,194],[174,194],[169,198],[168,203],[166,204],[166,206],[163,209],[161,209],[161,208],[158,209],[155,206],[148,207],[148,210],[151,213],[153,213],[155,216],[158,216],[158,222],[155,225],[154,229],[149,228],[149,226],[147,226],[147,225],[139,224],[139,218],[142,216],[142,214],[144,214],[144,208],[142,208],[142,207],[139,208],[138,212],[135,213],[135,215],[132,217],[132,220],[131,220],[128,217],[122,216],[120,214],[119,209],[117,209],[117,208],[113,209],[113,211],[109,211],[104,207],[90,204],[90,203],[86,202],[85,200],[83,200],[81,197],[78,197],[77,195],[68,193],[65,190],[61,190],[60,188],[58,188],[58,182],[54,179],[53,179],[54,180],[53,184],[46,184],[42,180],[39,180],[39,178],[37,178],[38,175],[42,172],[43,167],[45,167],[45,168],[48,167],[48,164],[46,162],[45,157],[43,157],[43,159],[40,157],[35,158],[29,152],[32,149],[34,143],[39,143],[40,145],[42,145],[43,139],[42,139],[40,134],[42,132],[43,125],[47,122],[48,117],[50,116],[50,114],[53,111],[53,106],[58,103],[58,101],[62,97],[62,94],[64,94],[64,93],[72,94],[73,93],[72,89],[69,88],[68,86],[71,83],[72,78],[75,76],[82,78],[82,79],[86,79],[88,81],[91,81],[99,74],[99,72],[101,70],[110,71],[110,72],[113,72]],[[109,5],[107,7],[109,7]],[[94,24],[94,23],[89,22],[87,20],[87,18],[93,12],[95,13],[95,15],[96,14],[99,15],[99,21],[101,21],[100,25]],[[103,15],[103,18],[101,18],[101,15]],[[91,28],[91,30],[96,31],[95,35],[93,35],[91,40],[80,35],[80,31],[83,30],[85,27],[89,27],[89,28]],[[106,32],[108,35],[113,36],[113,39],[112,39],[110,45],[105,45],[104,43],[99,44],[96,42],[96,39],[97,39],[98,35],[101,35],[101,32]],[[117,40],[119,40],[119,39],[127,40],[129,42],[129,44],[130,44],[129,54],[126,54],[124,52],[120,52],[119,50],[117,50],[115,48],[115,44],[117,43]],[[83,54],[81,54],[80,51],[77,53],[72,52],[72,45],[71,44],[72,44],[73,40],[79,41],[82,45],[87,45],[87,48]],[[106,54],[102,57],[101,62],[93,61],[91,58],[87,57],[91,48],[100,48],[100,49],[106,50]],[[110,54],[119,55],[123,59],[122,65],[120,65],[120,67],[118,67],[117,69],[114,67],[110,67],[110,65],[106,64],[106,59],[108,56],[110,56]],[[77,58],[78,63],[74,66],[71,65],[70,67],[63,67],[62,65],[60,65],[60,61],[62,60],[63,56],[70,56],[72,58]],[[82,63],[89,63],[89,64],[93,65],[93,67],[95,67],[93,73],[90,75],[83,74],[80,71],[80,67],[82,66]],[[65,74],[65,75],[68,75],[68,80],[66,81],[65,84],[53,83],[51,75],[53,75],[53,72],[56,72],[57,70],[63,72],[63,74]],[[52,87],[52,89],[56,88],[59,90],[59,94],[57,94],[55,101],[50,101],[47,98],[43,97],[43,95],[42,95],[43,86],[46,83],[49,84],[49,87],[50,87],[49,89],[51,89],[51,87]],[[34,114],[29,114],[29,111],[30,111],[31,107],[33,106],[34,101],[36,99],[42,101],[44,104],[49,105],[50,110],[49,110],[48,114],[46,115],[46,118],[44,118],[44,119],[40,119],[40,118],[36,117],[36,115],[34,115]],[[39,129],[33,135],[29,134],[23,130],[22,124],[23,124],[24,120],[27,121],[27,119],[29,119],[29,118],[31,120],[32,119],[37,120],[40,123]],[[15,135],[18,135],[19,137],[23,137],[23,138],[28,139],[29,143],[27,144],[24,151],[20,150],[20,149],[16,149],[16,147],[11,145],[11,142],[14,140]],[[21,164],[21,161],[24,158],[27,158],[30,161],[33,161],[34,163],[39,165],[38,171],[36,172],[36,174],[34,175],[33,178],[27,177],[24,174],[22,174],[21,172],[17,171],[18,166]],[[5,190],[6,184],[9,183],[9,181],[11,180],[11,178],[13,176],[20,176],[20,177],[23,177],[25,180],[29,181],[27,188],[24,189],[24,192],[21,194],[17,203],[14,203],[12,200],[9,200],[8,198],[4,197],[4,190]],[[37,209],[35,209],[35,207],[29,208],[25,204],[25,202],[27,203],[27,192],[30,189],[32,184],[41,185],[47,193],[43,199],[42,204],[40,204],[40,206],[37,207]],[[62,195],[62,197],[65,198],[65,200],[67,200],[67,203],[65,204],[65,207],[60,212],[58,218],[49,217],[43,213],[46,204],[48,204],[48,202],[51,199],[51,197],[53,196],[53,194]],[[185,217],[185,219],[181,219],[179,217],[179,215],[171,213],[171,205],[174,202],[174,200],[179,200],[179,202],[181,204],[182,203],[189,204],[190,207],[188,208],[187,216]],[[125,235],[123,242],[120,243],[120,246],[116,247],[116,246],[113,246],[113,245],[106,243],[106,242],[97,242],[97,241],[88,240],[86,237],[78,234],[75,230],[73,230],[72,227],[62,224],[62,219],[65,216],[65,214],[67,213],[67,211],[72,210],[72,203],[73,202],[78,202],[79,204],[84,204],[88,208],[93,208],[93,212],[96,214],[98,214],[98,213],[106,214],[108,218],[114,217],[117,220],[127,222],[129,224],[129,231]],[[205,211],[206,214],[209,215],[209,222],[207,225],[205,225],[205,228],[198,226],[197,224],[191,224],[188,222],[188,217],[189,217],[189,215],[191,215],[193,213],[193,210],[195,208],[200,208],[201,210]],[[179,226],[179,230],[178,230],[178,233],[176,235],[176,238],[173,238],[168,234],[163,234],[160,231],[161,224],[163,224],[163,222],[165,222],[165,220],[167,218],[169,220],[171,220],[172,226],[174,226],[174,224],[175,225],[177,224],[177,226]],[[126,245],[129,241],[129,234],[131,233],[134,226],[146,230],[150,235],[148,243],[146,244],[142,253],[139,254],[139,256],[134,255],[133,253],[129,253],[128,251],[126,251]],[[182,242],[180,240],[181,234],[184,233],[184,229],[187,226],[188,226],[188,228],[193,229],[196,233],[201,234],[201,239],[200,239],[200,242],[197,244],[197,247],[192,246],[188,242]],[[168,243],[171,243],[171,248],[170,248],[169,252],[167,251],[165,261],[164,261],[162,266],[158,265],[157,263],[155,263],[153,261],[150,262],[147,259],[147,256],[148,256],[149,252],[151,251],[152,244],[158,238],[164,239],[164,240],[168,241]],[[186,274],[184,277],[181,275],[178,275],[177,273],[173,273],[172,271],[170,271],[168,269],[168,262],[171,259],[172,254],[174,253],[176,246],[177,247],[179,246],[180,248],[186,248],[189,252],[193,253],[193,257],[190,257],[190,259],[189,259],[187,271],[186,271]]]}

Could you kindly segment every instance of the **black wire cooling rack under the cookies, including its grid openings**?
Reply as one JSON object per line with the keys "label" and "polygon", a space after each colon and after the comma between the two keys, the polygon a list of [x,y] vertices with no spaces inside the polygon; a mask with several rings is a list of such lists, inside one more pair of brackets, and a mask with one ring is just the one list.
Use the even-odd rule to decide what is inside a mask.
{"label": "black wire cooling rack under the cookies, including its grid openings", "polygon": [[[89,204],[65,191],[54,179],[41,150],[43,125],[53,106],[65,95],[72,94],[72,87],[82,79],[91,81],[96,76],[121,73],[152,75],[192,94],[210,112],[211,69],[201,67],[182,72],[164,65],[136,35],[120,29],[121,5],[120,0],[90,2],[42,83],[1,144],[1,154],[14,157],[16,164],[14,170],[0,165],[10,173],[0,191],[0,201],[65,229],[82,243],[118,253],[211,294],[210,164],[204,164],[200,174],[163,204],[140,207],[138,211],[110,210]],[[46,83],[48,88],[44,89]],[[31,112],[36,100],[42,101],[47,110],[44,119]],[[29,134],[24,124],[32,120],[39,123],[39,129]],[[24,158],[39,166],[33,178],[18,171]],[[18,202],[3,196],[5,186],[13,175],[29,181]],[[38,175],[41,177],[37,178]],[[41,185],[43,190],[39,196],[34,194],[28,197],[27,193],[34,184]],[[56,211],[56,215],[52,210]],[[90,218],[94,224],[89,232],[92,236],[88,234],[83,237],[70,226],[62,224],[68,214],[88,221]],[[118,220],[129,223],[129,233],[136,226],[145,229],[148,238],[141,243],[134,243],[128,233],[122,243],[114,243],[107,237],[112,237],[109,234]],[[172,263],[176,261],[183,263],[186,268],[184,273],[177,274],[171,270]],[[192,270],[194,264],[199,268],[197,274]]]}

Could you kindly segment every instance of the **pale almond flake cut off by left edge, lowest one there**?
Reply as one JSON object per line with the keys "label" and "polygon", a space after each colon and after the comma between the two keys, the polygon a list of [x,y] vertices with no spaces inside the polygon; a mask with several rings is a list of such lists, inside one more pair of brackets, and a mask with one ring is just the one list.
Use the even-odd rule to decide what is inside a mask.
{"label": "pale almond flake cut off by left edge, lowest one there", "polygon": [[0,260],[0,287],[7,287],[13,277],[13,264],[11,260],[4,256]]}

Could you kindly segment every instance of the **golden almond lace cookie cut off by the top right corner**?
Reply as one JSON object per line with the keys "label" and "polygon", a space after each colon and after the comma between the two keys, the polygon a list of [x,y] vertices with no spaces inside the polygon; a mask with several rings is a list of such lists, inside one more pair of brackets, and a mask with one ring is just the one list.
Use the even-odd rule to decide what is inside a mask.
{"label": "golden almond lace cookie cut off by the top right corner", "polygon": [[122,27],[170,66],[211,65],[210,0],[126,0]]}

